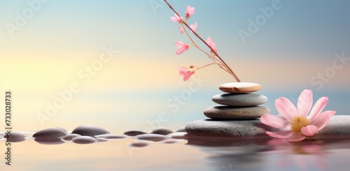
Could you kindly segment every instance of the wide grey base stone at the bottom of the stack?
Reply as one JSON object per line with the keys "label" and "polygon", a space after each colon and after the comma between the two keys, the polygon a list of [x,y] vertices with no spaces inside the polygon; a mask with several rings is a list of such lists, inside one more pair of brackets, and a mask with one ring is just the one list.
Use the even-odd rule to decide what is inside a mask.
{"label": "wide grey base stone at the bottom of the stack", "polygon": [[247,121],[218,121],[213,119],[198,120],[186,125],[188,135],[207,137],[253,137],[265,135],[265,131],[278,131],[266,126],[260,119]]}

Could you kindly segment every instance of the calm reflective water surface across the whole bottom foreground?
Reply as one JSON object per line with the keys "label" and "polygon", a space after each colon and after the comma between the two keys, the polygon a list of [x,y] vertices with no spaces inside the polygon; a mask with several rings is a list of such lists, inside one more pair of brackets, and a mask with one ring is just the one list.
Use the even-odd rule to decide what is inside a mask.
{"label": "calm reflective water surface across the whole bottom foreground", "polygon": [[[138,142],[134,137],[82,145],[28,135],[24,142],[11,144],[14,162],[10,170],[284,171],[348,170],[350,165],[349,137],[295,143],[266,136],[185,138],[132,147],[130,144]],[[5,140],[0,140],[1,149],[6,149]]]}

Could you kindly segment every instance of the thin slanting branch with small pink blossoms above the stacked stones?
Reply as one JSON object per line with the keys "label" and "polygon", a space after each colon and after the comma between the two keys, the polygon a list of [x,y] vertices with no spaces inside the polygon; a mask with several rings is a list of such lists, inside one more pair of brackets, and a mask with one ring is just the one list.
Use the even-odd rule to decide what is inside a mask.
{"label": "thin slanting branch with small pink blossoms above the stacked stones", "polygon": [[[210,54],[208,54],[207,52],[204,52],[204,50],[200,49],[200,47],[197,46],[197,44],[193,41],[192,38],[190,38],[190,40],[192,41],[192,43],[195,45],[195,47],[197,47],[199,50],[201,50],[202,52],[204,52],[205,54],[208,55],[209,58],[211,58],[214,62],[218,61],[220,64],[218,64],[218,66],[220,66],[221,68],[223,68],[225,71],[227,71],[228,73],[230,73],[233,77],[235,77],[235,80],[237,80],[237,82],[241,82],[239,80],[239,78],[237,77],[237,75],[235,75],[235,73],[232,71],[232,69],[225,63],[225,61],[223,61],[223,59],[218,55],[216,47],[215,47],[215,43],[211,40],[211,38],[209,37],[207,39],[207,41],[204,41],[203,38],[201,38],[196,32],[195,32],[195,27],[197,27],[197,23],[195,24],[195,27],[191,27],[188,26],[187,22],[183,21],[183,18],[181,17],[181,15],[179,15],[179,13],[172,7],[172,5],[170,5],[170,3],[168,3],[167,0],[164,0],[165,3],[167,3],[167,5],[169,6],[169,8],[171,8],[174,13],[175,13],[175,17],[172,17],[172,20],[174,22],[179,22],[182,24],[182,28],[181,29],[181,33],[183,31],[186,32],[186,34],[188,35],[188,37],[190,38],[190,35],[188,34],[188,32],[186,31],[185,27],[183,27],[183,25],[185,25],[188,29],[190,29],[190,31],[193,32],[193,34],[195,34],[195,36],[197,36],[197,38],[199,38],[205,45],[207,45],[207,47],[209,47],[209,49],[211,50],[211,54],[214,54],[214,57],[212,57]],[[188,20],[188,18],[190,17],[190,15],[192,15],[194,13],[194,8],[191,8],[190,6],[188,6],[188,11],[186,11],[186,20]],[[176,42],[176,43],[181,43],[181,42]],[[210,44],[210,45],[209,45]],[[179,47],[179,45],[176,45]],[[176,54],[181,54],[182,52],[185,52],[186,50],[188,50],[189,45],[181,45],[178,49],[178,51],[176,52]],[[218,57],[218,59],[216,59],[216,57]],[[181,72],[181,71],[180,71]],[[194,73],[194,71],[193,71]],[[185,79],[184,79],[185,80]],[[186,79],[188,80],[188,79]]]}

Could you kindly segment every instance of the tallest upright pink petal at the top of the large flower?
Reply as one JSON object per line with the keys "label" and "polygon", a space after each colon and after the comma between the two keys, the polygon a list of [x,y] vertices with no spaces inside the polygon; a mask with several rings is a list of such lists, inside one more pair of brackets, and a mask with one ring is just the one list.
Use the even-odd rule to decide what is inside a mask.
{"label": "tallest upright pink petal at the top of the large flower", "polygon": [[312,106],[312,91],[304,89],[297,99],[297,113],[306,117],[309,114]]}

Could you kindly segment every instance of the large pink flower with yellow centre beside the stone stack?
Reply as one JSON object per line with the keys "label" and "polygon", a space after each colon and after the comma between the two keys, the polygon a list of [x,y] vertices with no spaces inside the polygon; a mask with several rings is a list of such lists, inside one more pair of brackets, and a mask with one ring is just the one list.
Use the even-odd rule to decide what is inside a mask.
{"label": "large pink flower with yellow centre beside the stone stack", "polygon": [[[288,98],[279,98],[275,101],[276,109],[281,117],[273,114],[262,114],[260,121],[274,128],[283,129],[280,132],[266,134],[276,138],[286,138],[288,141],[301,141],[305,137],[313,137],[328,123],[335,111],[324,111],[328,97],[321,97],[311,110],[312,91],[305,89],[297,100],[297,107]],[[311,112],[310,112],[311,110]]]}

